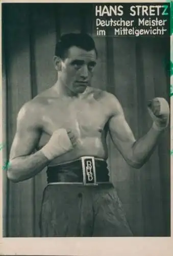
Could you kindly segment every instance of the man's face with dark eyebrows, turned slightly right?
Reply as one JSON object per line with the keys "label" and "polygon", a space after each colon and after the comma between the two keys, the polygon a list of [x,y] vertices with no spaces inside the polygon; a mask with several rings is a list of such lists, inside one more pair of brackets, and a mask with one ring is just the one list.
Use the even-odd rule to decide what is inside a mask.
{"label": "man's face with dark eyebrows, turned slightly right", "polygon": [[85,51],[72,46],[68,49],[67,57],[61,62],[60,79],[71,92],[83,93],[91,84],[95,65],[95,50]]}

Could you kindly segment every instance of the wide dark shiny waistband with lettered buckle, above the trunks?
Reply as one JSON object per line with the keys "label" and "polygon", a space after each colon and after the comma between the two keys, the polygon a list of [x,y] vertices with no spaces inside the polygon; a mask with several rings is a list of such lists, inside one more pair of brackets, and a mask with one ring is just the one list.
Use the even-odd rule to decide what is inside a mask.
{"label": "wide dark shiny waistband with lettered buckle, above the trunks", "polygon": [[75,161],[48,166],[48,184],[97,185],[109,183],[107,162],[94,157],[81,157]]}

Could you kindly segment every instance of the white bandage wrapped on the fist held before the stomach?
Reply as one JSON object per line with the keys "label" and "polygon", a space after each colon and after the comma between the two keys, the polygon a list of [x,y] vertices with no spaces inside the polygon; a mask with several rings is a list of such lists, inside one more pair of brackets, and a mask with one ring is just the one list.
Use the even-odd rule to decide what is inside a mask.
{"label": "white bandage wrapped on the fist held before the stomach", "polygon": [[51,139],[40,151],[48,160],[53,160],[71,149],[72,144],[67,131],[65,129],[59,129],[53,133]]}

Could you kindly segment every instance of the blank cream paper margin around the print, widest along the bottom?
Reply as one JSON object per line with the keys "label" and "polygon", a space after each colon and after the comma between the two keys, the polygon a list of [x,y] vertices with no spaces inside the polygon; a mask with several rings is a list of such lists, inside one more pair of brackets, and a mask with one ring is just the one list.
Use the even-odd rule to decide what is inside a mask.
{"label": "blank cream paper margin around the print, widest along the bottom", "polygon": [[[77,1],[2,1],[3,3],[75,3]],[[106,1],[78,1],[77,3],[101,3]],[[162,3],[165,1],[109,1],[109,3]],[[1,40],[1,39],[0,39]],[[2,90],[0,90],[2,92]],[[2,96],[2,94],[1,94]],[[171,100],[172,109],[172,100]],[[0,101],[2,117],[2,100]],[[2,118],[1,118],[2,120]],[[2,126],[0,126],[2,142]],[[2,154],[0,154],[2,163]],[[172,162],[172,157],[171,157]],[[171,171],[172,180],[172,171]],[[2,185],[2,173],[0,177]],[[172,188],[171,188],[172,198]],[[2,195],[1,195],[2,205]],[[172,211],[171,211],[172,212]],[[171,215],[172,217],[172,215]],[[171,218],[172,219],[172,218]],[[2,220],[2,218],[1,218]],[[2,224],[2,221],[1,221]],[[172,221],[171,221],[172,230]],[[80,255],[80,256],[170,256],[173,252],[172,238],[2,238],[1,255]]]}

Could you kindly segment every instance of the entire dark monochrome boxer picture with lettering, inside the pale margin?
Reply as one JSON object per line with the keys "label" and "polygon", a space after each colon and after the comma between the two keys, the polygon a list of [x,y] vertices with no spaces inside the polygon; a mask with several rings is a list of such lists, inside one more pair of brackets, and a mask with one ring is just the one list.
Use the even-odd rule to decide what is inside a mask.
{"label": "entire dark monochrome boxer picture with lettering, inside the pale margin", "polygon": [[3,237],[170,237],[169,3],[3,3]]}

